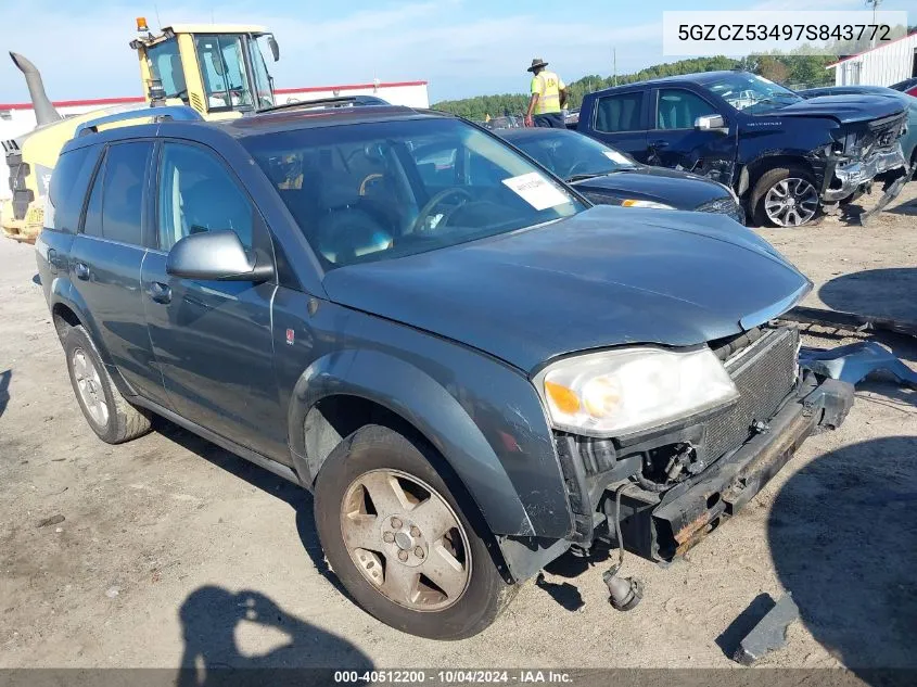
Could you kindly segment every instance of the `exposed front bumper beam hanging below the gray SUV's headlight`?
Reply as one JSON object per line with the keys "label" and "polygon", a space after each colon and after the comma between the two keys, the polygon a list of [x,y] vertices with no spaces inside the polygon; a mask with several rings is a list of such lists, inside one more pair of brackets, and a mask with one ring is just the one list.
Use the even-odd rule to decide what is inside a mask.
{"label": "exposed front bumper beam hanging below the gray SUV's headlight", "polygon": [[825,380],[804,397],[784,406],[766,433],[717,460],[697,481],[673,487],[658,505],[650,495],[640,504],[640,496],[626,494],[629,513],[621,523],[625,547],[655,561],[684,555],[739,512],[808,435],[839,427],[852,405],[851,384]]}

